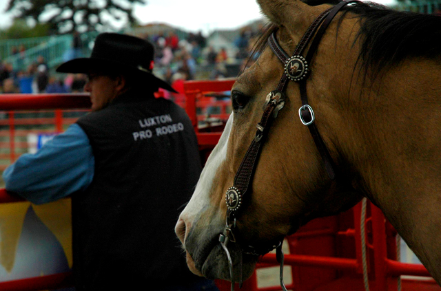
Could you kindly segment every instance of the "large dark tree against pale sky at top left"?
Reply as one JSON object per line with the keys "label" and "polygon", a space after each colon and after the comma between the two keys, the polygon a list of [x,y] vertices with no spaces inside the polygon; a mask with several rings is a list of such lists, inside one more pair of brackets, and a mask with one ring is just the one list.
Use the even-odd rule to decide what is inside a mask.
{"label": "large dark tree against pale sky at top left", "polygon": [[134,4],[147,0],[9,0],[6,12],[16,11],[18,19],[47,23],[59,33],[113,30],[113,23],[133,25]]}

